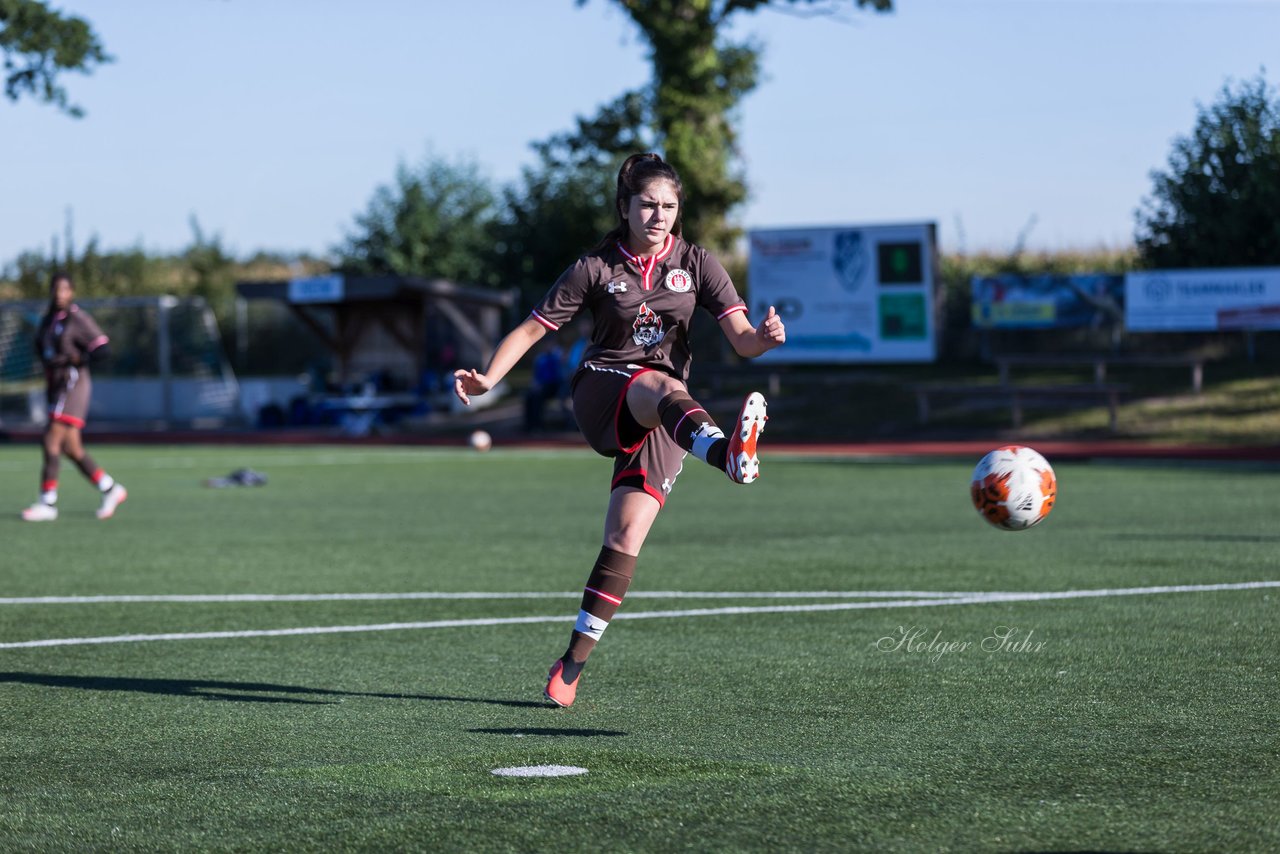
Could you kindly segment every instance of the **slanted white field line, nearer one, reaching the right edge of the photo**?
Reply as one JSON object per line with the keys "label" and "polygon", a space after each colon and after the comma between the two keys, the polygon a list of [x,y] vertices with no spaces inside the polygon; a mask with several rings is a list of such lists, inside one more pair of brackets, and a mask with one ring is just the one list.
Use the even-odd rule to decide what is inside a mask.
{"label": "slanted white field line, nearer one, reaching the right edge of the photo", "polygon": [[[655,620],[676,617],[722,617],[754,613],[813,613],[820,611],[861,611],[869,608],[927,608],[946,604],[989,604],[992,602],[1043,602],[1048,599],[1084,599],[1100,597],[1157,595],[1166,593],[1217,593],[1225,590],[1258,590],[1280,588],[1280,581],[1240,581],[1236,584],[1184,584],[1155,588],[1112,588],[1098,590],[1060,590],[1048,593],[973,593],[948,599],[888,599],[883,602],[832,602],[823,604],[777,604],[759,607],[692,608],[687,611],[640,611],[620,613],[614,620]],[[0,649],[36,647],[78,647],[91,644],[123,644],[155,640],[214,640],[228,638],[282,638],[287,635],[328,635],[365,631],[406,631],[416,629],[463,629],[476,626],[509,626],[536,622],[568,622],[570,617],[497,617],[481,620],[433,620],[429,622],[385,622],[362,626],[306,626],[298,629],[262,629],[248,631],[193,631],[157,635],[114,635],[106,638],[50,638],[0,643]]]}

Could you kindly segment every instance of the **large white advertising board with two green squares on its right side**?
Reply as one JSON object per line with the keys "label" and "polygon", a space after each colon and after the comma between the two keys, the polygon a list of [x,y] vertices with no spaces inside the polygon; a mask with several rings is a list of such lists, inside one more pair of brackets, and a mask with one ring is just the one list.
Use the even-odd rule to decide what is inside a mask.
{"label": "large white advertising board with two green squares on its right side", "polygon": [[936,236],[933,223],[750,232],[751,319],[772,305],[787,324],[760,361],[933,361]]}

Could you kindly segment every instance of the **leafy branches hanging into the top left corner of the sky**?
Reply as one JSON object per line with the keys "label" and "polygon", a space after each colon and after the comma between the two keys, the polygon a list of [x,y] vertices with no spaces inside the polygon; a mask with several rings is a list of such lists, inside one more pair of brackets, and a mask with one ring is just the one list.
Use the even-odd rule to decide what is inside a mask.
{"label": "leafy branches hanging into the top left corner of the sky", "polygon": [[68,100],[59,74],[88,74],[95,65],[111,61],[88,22],[38,0],[0,0],[0,54],[10,101],[28,95],[73,118],[84,110]]}

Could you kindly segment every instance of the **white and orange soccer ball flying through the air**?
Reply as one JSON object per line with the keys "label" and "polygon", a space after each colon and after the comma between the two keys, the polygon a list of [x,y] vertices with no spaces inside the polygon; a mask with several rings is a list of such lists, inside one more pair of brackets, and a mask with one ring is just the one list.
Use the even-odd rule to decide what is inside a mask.
{"label": "white and orange soccer ball flying through the air", "polygon": [[1006,444],[978,462],[969,494],[988,522],[1001,530],[1020,531],[1038,525],[1053,510],[1057,476],[1039,452]]}

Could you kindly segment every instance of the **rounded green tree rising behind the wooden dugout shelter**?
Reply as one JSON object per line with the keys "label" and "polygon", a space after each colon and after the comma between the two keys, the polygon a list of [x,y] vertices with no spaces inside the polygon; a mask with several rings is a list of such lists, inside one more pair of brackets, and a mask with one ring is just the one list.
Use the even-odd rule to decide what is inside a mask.
{"label": "rounded green tree rising behind the wooden dugout shelter", "polygon": [[497,193],[474,163],[429,156],[401,164],[379,187],[356,229],[335,251],[347,273],[440,277],[499,284],[493,265]]}

